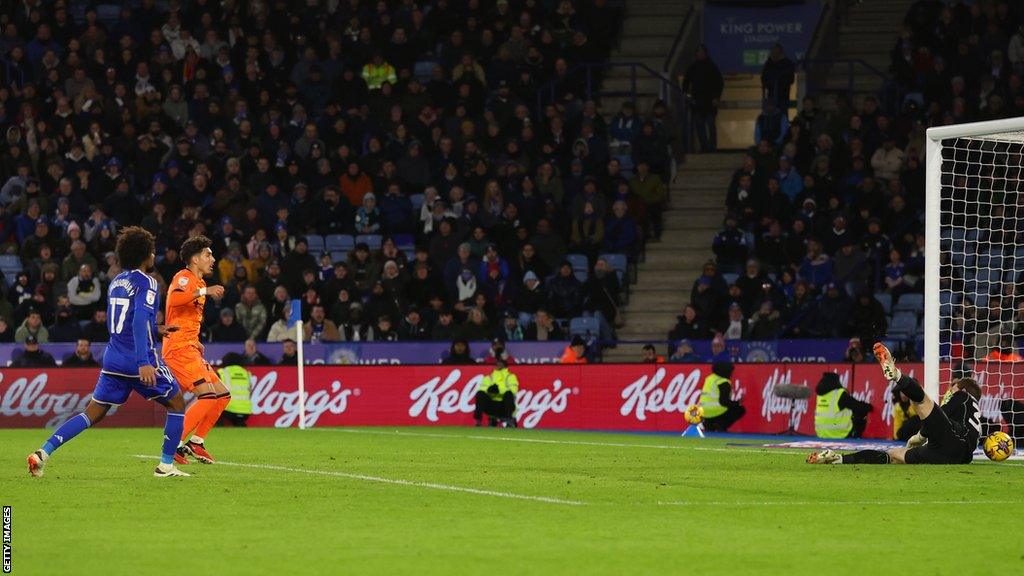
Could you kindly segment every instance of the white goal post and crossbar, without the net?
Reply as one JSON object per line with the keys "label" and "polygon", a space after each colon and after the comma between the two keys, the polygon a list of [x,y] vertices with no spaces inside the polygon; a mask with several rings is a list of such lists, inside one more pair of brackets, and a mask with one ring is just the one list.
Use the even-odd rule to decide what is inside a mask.
{"label": "white goal post and crossbar, without the net", "polygon": [[996,136],[1024,131],[1024,117],[973,122],[929,128],[925,138],[927,182],[925,187],[925,378],[924,386],[933,400],[939,398],[940,336],[940,254],[942,252],[942,140]]}

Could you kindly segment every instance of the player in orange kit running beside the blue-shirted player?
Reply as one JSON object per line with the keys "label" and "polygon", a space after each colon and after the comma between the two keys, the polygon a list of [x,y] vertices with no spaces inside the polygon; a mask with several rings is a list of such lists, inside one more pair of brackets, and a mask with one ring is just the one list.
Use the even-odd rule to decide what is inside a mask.
{"label": "player in orange kit running beside the blue-shirted player", "polygon": [[206,435],[231,399],[216,370],[203,360],[204,346],[199,341],[206,297],[224,295],[223,286],[207,286],[203,280],[213,274],[216,261],[211,246],[213,242],[205,236],[185,240],[180,251],[185,269],[174,275],[167,288],[165,324],[176,326],[178,331],[164,337],[164,362],[181,389],[196,396],[196,401],[185,410],[181,444],[174,456],[179,464],[188,463],[185,456],[193,456],[205,464],[213,463],[213,456],[204,446]]}

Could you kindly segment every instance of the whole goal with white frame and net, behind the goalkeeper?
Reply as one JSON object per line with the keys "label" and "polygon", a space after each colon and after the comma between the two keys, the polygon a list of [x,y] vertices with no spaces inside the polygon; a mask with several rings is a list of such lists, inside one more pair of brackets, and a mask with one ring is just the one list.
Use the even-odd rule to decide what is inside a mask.
{"label": "whole goal with white frame and net, behind the goalkeeper", "polygon": [[926,389],[937,399],[950,378],[973,376],[983,433],[1020,446],[1024,118],[932,128],[927,147]]}

